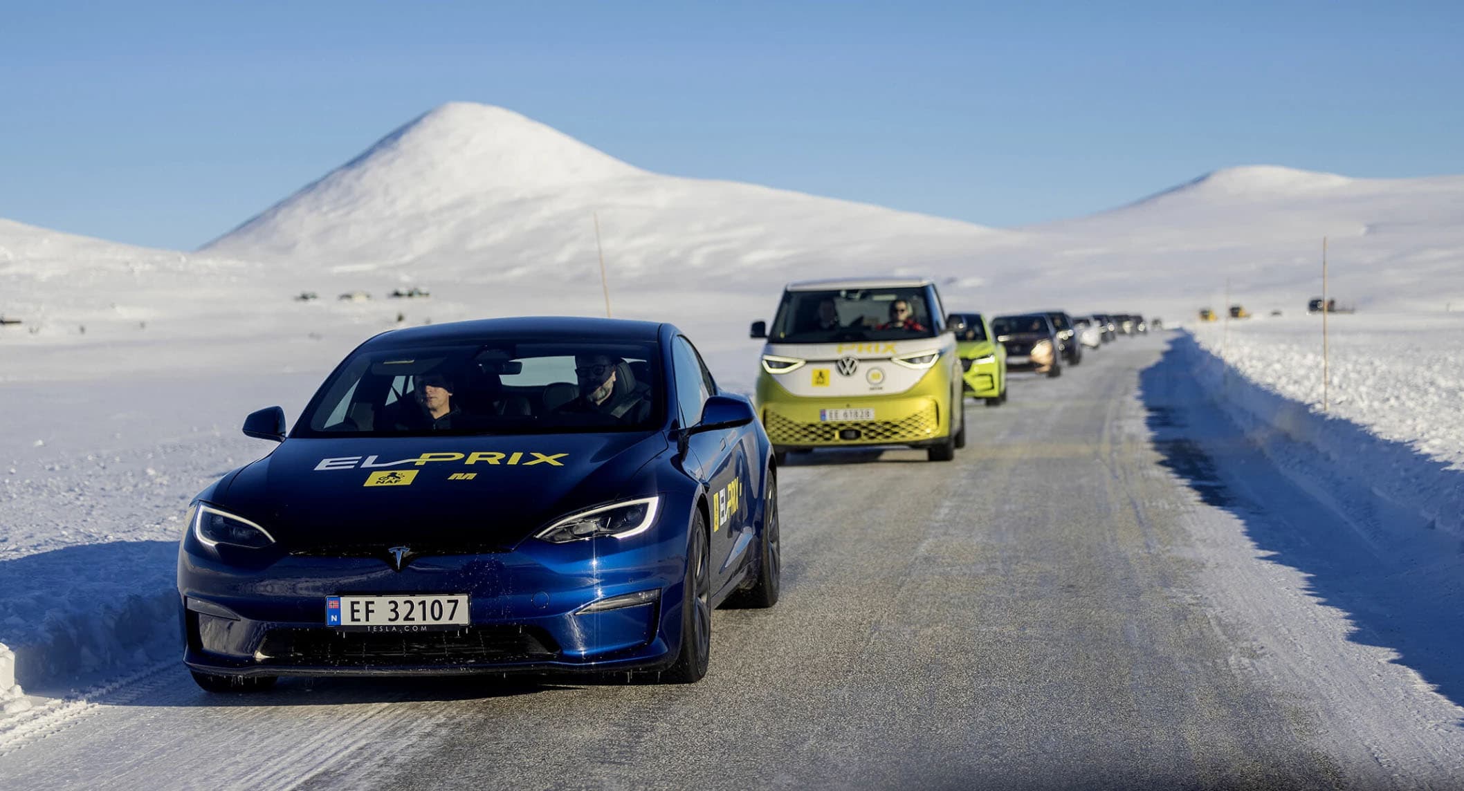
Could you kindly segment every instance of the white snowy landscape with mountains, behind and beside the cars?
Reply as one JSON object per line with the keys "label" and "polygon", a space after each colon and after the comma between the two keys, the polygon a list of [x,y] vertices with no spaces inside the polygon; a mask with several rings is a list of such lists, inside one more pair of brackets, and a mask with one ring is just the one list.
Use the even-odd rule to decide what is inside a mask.
{"label": "white snowy landscape with mountains, behind and beside the cars", "polygon": [[[6,692],[7,673],[64,692],[176,656],[179,519],[203,485],[274,447],[239,433],[247,412],[278,404],[293,420],[346,352],[397,326],[603,314],[596,215],[613,314],[678,323],[736,390],[757,370],[747,326],[772,319],[791,279],[919,273],[950,310],[1176,325],[1220,309],[1228,278],[1253,310],[1285,316],[1231,322],[1224,341],[1218,323],[1183,322],[1250,385],[1231,393],[1224,376],[1217,395],[1234,395],[1256,431],[1334,444],[1323,452],[1353,475],[1376,461],[1359,442],[1382,443],[1385,494],[1413,485],[1420,519],[1464,534],[1445,512],[1457,493],[1436,491],[1464,465],[1464,177],[1233,168],[1111,212],[993,230],[651,174],[454,104],[199,251],[0,221],[0,314],[22,322],[0,328],[7,711],[38,700]],[[1301,306],[1319,294],[1322,235],[1332,289],[1360,311],[1331,319],[1332,409],[1313,420],[1321,319]],[[432,297],[386,298],[410,285]],[[337,300],[357,289],[373,298]],[[321,298],[293,300],[302,291]],[[1364,452],[1347,462],[1348,447]]]}

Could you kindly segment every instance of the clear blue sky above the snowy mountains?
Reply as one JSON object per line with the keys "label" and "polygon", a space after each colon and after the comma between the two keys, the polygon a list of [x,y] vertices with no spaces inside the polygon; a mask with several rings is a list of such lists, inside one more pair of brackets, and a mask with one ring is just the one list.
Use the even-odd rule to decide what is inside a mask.
{"label": "clear blue sky above the snowy mountains", "polygon": [[1464,3],[0,4],[0,218],[192,249],[445,101],[985,225],[1464,173]]}

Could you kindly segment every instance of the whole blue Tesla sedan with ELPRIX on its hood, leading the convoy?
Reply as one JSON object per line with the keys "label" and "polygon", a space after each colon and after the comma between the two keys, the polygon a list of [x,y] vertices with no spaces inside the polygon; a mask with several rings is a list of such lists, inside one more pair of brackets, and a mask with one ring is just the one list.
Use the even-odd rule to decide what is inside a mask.
{"label": "whole blue Tesla sedan with ELPRIX on its hood, leading the convoy", "polygon": [[184,664],[280,675],[707,671],[712,610],[779,592],[751,404],[671,325],[493,319],[353,351],[189,507]]}

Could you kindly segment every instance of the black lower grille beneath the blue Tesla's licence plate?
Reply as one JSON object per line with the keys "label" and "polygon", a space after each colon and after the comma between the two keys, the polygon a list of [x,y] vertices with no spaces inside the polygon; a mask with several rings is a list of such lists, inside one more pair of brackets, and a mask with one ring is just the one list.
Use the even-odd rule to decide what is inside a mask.
{"label": "black lower grille beneath the blue Tesla's licence plate", "polygon": [[375,633],[331,629],[271,629],[258,659],[275,665],[458,665],[526,662],[558,655],[534,627],[467,626],[452,632]]}

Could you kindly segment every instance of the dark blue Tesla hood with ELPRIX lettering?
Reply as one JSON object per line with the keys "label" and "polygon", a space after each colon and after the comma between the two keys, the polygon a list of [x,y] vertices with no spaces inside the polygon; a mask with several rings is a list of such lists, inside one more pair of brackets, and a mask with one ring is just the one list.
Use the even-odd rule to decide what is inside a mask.
{"label": "dark blue Tesla hood with ELPRIX lettering", "polygon": [[290,439],[214,503],[290,551],[384,542],[489,551],[552,518],[653,494],[637,472],[666,449],[660,431]]}

